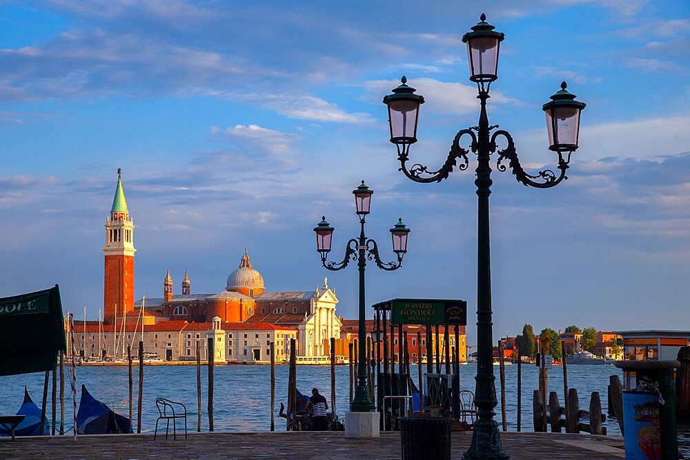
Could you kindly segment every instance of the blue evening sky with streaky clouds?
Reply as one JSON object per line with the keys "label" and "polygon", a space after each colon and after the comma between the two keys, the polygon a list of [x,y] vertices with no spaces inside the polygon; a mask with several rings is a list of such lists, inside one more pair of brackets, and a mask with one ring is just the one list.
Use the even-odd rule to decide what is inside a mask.
{"label": "blue evening sky with streaky clouds", "polygon": [[368,303],[460,298],[472,313],[473,163],[406,179],[382,97],[403,74],[424,95],[411,157],[440,165],[476,124],[460,37],[486,12],[506,34],[489,119],[524,166],[555,165],[541,104],[562,80],[588,104],[567,181],[493,173],[495,335],[690,328],[690,4],[486,3],[0,1],[0,295],[59,283],[95,317],[122,168],[137,298],[161,296],[168,265],[175,292],[185,268],[193,292],[219,292],[248,248],[268,290],[327,275],[355,317],[357,270],[320,268],[312,228],[325,214],[341,258],[365,179],[384,259],[397,217],[412,229],[401,270],[368,270]]}

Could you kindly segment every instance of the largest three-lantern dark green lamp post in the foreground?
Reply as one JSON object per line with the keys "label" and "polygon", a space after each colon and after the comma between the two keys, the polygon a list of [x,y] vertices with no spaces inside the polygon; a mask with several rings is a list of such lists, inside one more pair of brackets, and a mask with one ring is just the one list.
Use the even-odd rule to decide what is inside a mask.
{"label": "largest three-lantern dark green lamp post in the foreground", "polygon": [[[497,125],[489,126],[486,115],[486,99],[489,99],[489,86],[497,79],[498,49],[504,35],[496,32],[491,24],[486,23],[482,14],[481,22],[467,32],[462,41],[467,44],[470,65],[470,80],[477,83],[477,99],[481,103],[478,126],[463,129],[455,134],[451,151],[441,168],[430,171],[426,166],[415,163],[408,168],[410,146],[417,141],[417,120],[420,105],[424,97],[415,94],[415,89],[402,85],[393,90],[393,94],[384,97],[388,106],[388,121],[391,127],[391,142],[397,146],[400,170],[415,182],[440,182],[446,179],[453,166],[466,170],[469,166],[467,155],[471,150],[477,154],[477,196],[479,197],[479,214],[477,221],[477,377],[475,377],[475,405],[477,422],[472,436],[472,444],[465,452],[465,458],[507,458],[501,446],[498,423],[493,420],[496,400],[495,377],[492,364],[491,332],[491,266],[489,256],[489,194],[491,194],[491,154],[497,154],[496,168],[505,171],[510,168],[518,182],[525,186],[550,188],[566,179],[571,154],[578,148],[578,131],[580,128],[580,111],[585,104],[575,101],[575,95],[566,90],[563,82],[561,90],[551,96],[551,101],[542,107],[546,114],[546,125],[549,130],[549,150],[558,155],[559,174],[553,170],[542,170],[535,175],[526,173],[517,159],[515,144],[509,132],[495,130]],[[471,137],[469,150],[460,146],[460,138],[467,134]],[[502,136],[507,141],[504,150],[496,145],[496,138]],[[504,164],[507,161],[508,165]]]}

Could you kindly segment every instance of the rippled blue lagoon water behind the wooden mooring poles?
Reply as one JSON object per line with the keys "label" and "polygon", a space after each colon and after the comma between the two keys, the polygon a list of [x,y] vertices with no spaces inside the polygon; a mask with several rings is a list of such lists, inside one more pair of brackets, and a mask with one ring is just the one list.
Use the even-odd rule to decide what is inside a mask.
{"label": "rippled blue lagoon water behind the wooden mooring poles", "polygon": [[[417,366],[412,365],[413,379],[417,380]],[[506,412],[509,431],[517,428],[517,365],[506,366]],[[66,376],[68,376],[66,367]],[[132,426],[136,427],[138,368],[133,368]],[[472,390],[475,387],[476,366],[460,366],[460,389]],[[494,366],[496,376],[496,393],[499,401],[496,406],[495,420],[501,422],[500,415],[500,379],[499,368]],[[613,366],[569,366],[569,388],[577,388],[580,397],[580,409],[589,410],[591,392],[598,391],[602,403],[602,412],[607,412],[607,386],[609,375],[622,372]],[[270,366],[215,366],[213,390],[213,423],[217,431],[268,431],[270,429]],[[201,430],[208,430],[207,401],[207,368],[201,366]],[[26,385],[29,394],[37,405],[41,406],[43,393],[43,373],[0,377],[4,396],[0,399],[0,414],[14,414],[23,399],[23,387]],[[77,367],[77,402],[81,394],[81,384],[85,384],[93,397],[106,403],[120,414],[128,414],[128,368],[127,366],[78,366]],[[48,418],[50,418],[50,388],[48,390]],[[287,403],[288,366],[276,366],[275,369],[275,427],[285,429],[285,420],[278,417],[280,403]],[[297,366],[297,390],[308,393],[317,387],[331,403],[331,368],[328,366]],[[349,393],[348,366],[336,367],[336,412],[340,417],[348,409]],[[523,431],[532,428],[532,394],[538,388],[538,369],[534,365],[522,366],[522,423]],[[563,401],[562,366],[553,366],[549,370],[549,392],[558,392],[561,406]],[[68,377],[66,377],[65,418],[71,426],[72,399]],[[144,366],[144,410],[141,415],[142,431],[152,432],[158,412],[155,398],[164,397],[180,401],[187,406],[188,430],[197,428],[197,376],[196,366]],[[59,404],[59,388],[58,388]],[[58,406],[59,418],[59,406]],[[604,423],[607,434],[620,436],[618,423],[609,419]],[[135,428],[136,429],[136,428]],[[690,454],[690,430],[680,427],[682,451]]]}

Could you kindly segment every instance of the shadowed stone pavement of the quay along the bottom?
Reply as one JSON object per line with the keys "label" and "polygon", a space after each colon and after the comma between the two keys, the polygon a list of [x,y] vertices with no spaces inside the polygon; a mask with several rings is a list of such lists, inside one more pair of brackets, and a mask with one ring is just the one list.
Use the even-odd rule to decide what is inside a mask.
{"label": "shadowed stone pavement of the quay along the bottom", "polygon": [[[471,432],[453,433],[453,458],[462,458]],[[620,459],[622,438],[592,434],[506,432],[513,459]],[[166,441],[152,434],[102,434],[0,439],[0,459],[400,459],[400,432],[380,439],[344,439],[342,432],[193,432]],[[431,460],[431,459],[430,459]]]}

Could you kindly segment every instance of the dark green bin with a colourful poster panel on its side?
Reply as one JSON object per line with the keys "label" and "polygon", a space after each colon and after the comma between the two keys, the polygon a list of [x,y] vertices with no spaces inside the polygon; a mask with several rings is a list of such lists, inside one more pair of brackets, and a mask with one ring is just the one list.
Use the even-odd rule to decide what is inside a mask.
{"label": "dark green bin with a colourful poster panel on its side", "polygon": [[[636,386],[641,386],[642,381],[651,382],[651,387],[645,386],[644,391],[624,390],[623,392],[623,437],[625,438],[625,451],[628,452],[628,445],[634,442],[647,442],[647,437],[653,439],[653,428],[644,428],[642,434],[636,432],[634,420],[640,417],[635,414],[635,404],[642,405],[639,409],[644,412],[649,398],[657,401],[658,413],[658,435],[660,442],[660,459],[678,459],[678,429],[676,426],[676,388],[673,383],[673,369],[680,366],[675,360],[669,361],[617,361],[615,367],[624,372],[635,372]],[[652,388],[653,387],[653,388]],[[649,390],[653,391],[649,391]],[[651,393],[651,394],[646,394]],[[664,403],[658,402],[661,396]],[[626,414],[626,398],[633,406],[628,408]],[[633,401],[638,401],[633,403]],[[651,404],[646,406],[651,410]],[[629,419],[632,417],[632,419]],[[642,417],[644,418],[644,417]],[[651,427],[651,425],[649,425]],[[640,429],[643,427],[640,426]],[[642,437],[641,441],[638,437]],[[629,439],[630,438],[630,439]],[[653,446],[652,446],[653,447]],[[653,450],[651,450],[653,452]],[[627,457],[626,457],[627,458]],[[631,457],[638,458],[638,457]],[[644,457],[639,457],[644,458]]]}

